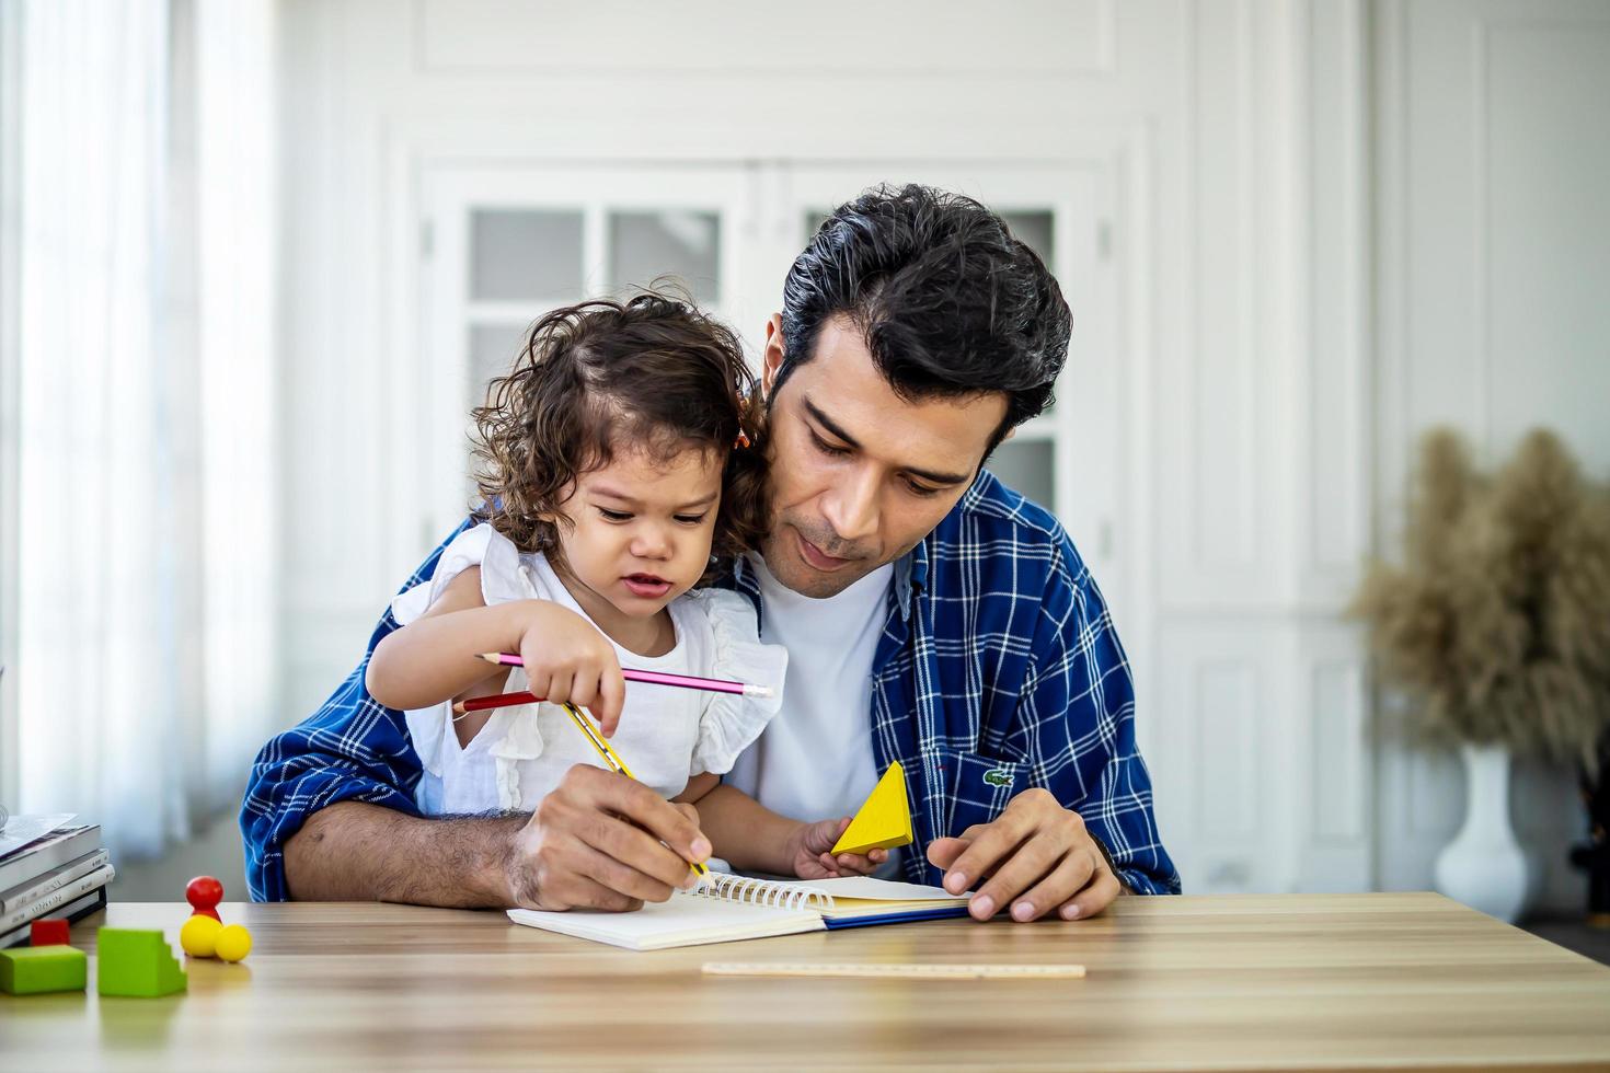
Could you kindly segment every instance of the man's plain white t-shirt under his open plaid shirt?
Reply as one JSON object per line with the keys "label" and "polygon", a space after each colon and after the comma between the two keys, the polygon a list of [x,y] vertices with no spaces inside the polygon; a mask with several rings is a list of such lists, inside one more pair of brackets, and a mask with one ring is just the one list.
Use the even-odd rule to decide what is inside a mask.
{"label": "man's plain white t-shirt under his open plaid shirt", "polygon": [[[773,812],[800,820],[855,816],[877,785],[873,759],[873,656],[889,618],[894,565],[816,600],[749,563],[765,613],[760,639],[789,652],[782,713],[733,764],[726,782]],[[889,854],[887,870],[894,870]],[[879,872],[884,872],[881,869]]]}

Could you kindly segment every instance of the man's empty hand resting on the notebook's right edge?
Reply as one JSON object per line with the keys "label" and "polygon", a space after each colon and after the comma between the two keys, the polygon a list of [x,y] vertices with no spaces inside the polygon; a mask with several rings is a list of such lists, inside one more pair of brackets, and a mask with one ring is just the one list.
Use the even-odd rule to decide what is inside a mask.
{"label": "man's empty hand resting on the notebook's right edge", "polygon": [[927,859],[945,869],[952,894],[989,880],[968,902],[976,920],[1006,906],[1018,922],[1051,911],[1063,920],[1093,917],[1124,890],[1079,812],[1046,790],[1024,790],[995,820],[969,827],[961,838],[935,838]]}

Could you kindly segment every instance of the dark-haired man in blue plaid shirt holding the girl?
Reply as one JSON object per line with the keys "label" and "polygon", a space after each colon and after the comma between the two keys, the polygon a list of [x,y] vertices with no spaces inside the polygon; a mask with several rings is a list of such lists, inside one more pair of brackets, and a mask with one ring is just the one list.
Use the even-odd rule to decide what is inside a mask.
{"label": "dark-haired man in blue plaid shirt holding the girl", "polygon": [[[1040,259],[977,203],[921,187],[834,212],[766,325],[773,524],[731,584],[787,647],[789,687],[726,782],[781,816],[853,816],[900,761],[916,841],[894,867],[974,890],[979,920],[1180,888],[1101,594],[1056,520],[980,468],[1051,401],[1067,335]],[[393,629],[388,611],[369,650]],[[359,666],[258,756],[240,817],[253,898],[634,909],[721,845],[601,767],[531,816],[425,819],[419,779],[402,713]]]}

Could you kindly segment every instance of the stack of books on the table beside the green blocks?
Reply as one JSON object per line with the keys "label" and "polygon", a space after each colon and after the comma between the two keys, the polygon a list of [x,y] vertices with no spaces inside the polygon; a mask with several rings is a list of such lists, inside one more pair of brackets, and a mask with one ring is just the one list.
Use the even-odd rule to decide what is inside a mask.
{"label": "stack of books on the table beside the green blocks", "polygon": [[[113,867],[101,846],[100,825],[47,822],[27,827],[29,820],[39,819],[42,817],[13,816],[3,830],[0,949],[27,943],[34,920],[79,920],[106,904]],[[19,827],[26,835],[14,838]],[[29,837],[35,833],[37,837]]]}

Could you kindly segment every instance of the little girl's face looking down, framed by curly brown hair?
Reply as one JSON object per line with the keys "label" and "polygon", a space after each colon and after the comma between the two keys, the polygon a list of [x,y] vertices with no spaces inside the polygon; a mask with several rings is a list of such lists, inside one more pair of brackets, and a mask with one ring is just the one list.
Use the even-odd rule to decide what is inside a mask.
{"label": "little girl's face looking down, framed by curly brown hair", "polygon": [[[724,458],[689,449],[670,462],[620,450],[576,479],[560,513],[560,571],[599,626],[613,618],[649,618],[687,592],[710,565],[721,504]],[[607,608],[602,605],[609,605]]]}

